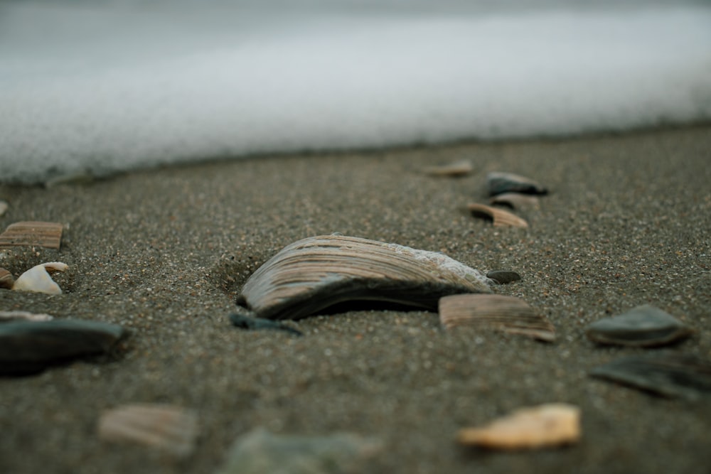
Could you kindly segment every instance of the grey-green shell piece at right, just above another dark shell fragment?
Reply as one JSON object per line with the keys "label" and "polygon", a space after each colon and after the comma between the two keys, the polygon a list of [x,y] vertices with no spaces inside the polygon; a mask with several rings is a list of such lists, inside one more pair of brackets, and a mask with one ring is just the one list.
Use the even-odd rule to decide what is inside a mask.
{"label": "grey-green shell piece at right, just above another dark shell fragment", "polygon": [[693,330],[659,308],[642,305],[620,316],[596,321],[586,333],[600,344],[653,347],[688,338]]}

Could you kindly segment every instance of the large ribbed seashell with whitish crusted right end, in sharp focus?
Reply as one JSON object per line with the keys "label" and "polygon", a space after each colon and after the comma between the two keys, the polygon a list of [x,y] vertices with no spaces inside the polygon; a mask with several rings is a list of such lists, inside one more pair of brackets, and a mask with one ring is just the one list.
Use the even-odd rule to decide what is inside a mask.
{"label": "large ribbed seashell with whitish crusted right end, in sharp focus", "polygon": [[481,271],[447,255],[324,235],[284,247],[247,280],[237,303],[260,318],[299,319],[343,301],[437,309],[442,296],[490,293]]}

